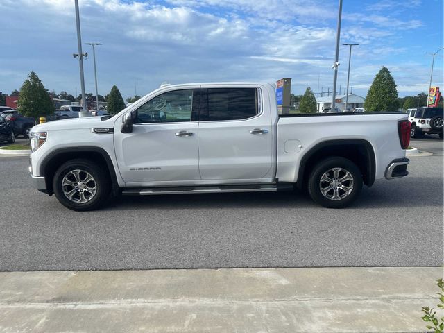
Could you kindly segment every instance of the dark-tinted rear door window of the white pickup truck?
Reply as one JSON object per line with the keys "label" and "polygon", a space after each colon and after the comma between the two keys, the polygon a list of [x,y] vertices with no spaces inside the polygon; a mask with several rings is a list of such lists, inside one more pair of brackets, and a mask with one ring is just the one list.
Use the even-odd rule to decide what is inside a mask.
{"label": "dark-tinted rear door window of the white pickup truck", "polygon": [[256,88],[207,89],[207,103],[201,105],[200,121],[240,120],[258,114]]}

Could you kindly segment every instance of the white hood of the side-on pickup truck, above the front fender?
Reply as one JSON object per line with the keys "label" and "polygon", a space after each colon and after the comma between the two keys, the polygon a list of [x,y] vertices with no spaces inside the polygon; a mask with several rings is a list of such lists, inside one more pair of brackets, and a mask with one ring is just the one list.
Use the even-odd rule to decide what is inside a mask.
{"label": "white hood of the side-on pickup truck, above the front fender", "polygon": [[84,117],[73,119],[62,119],[41,123],[32,128],[32,132],[45,132],[48,130],[74,130],[93,127],[114,127],[115,119],[101,120],[101,117]]}

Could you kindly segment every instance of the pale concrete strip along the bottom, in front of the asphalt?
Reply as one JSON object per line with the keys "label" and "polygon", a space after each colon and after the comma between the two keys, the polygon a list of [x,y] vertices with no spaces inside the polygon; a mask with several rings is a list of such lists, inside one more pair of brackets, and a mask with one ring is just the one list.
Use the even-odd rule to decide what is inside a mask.
{"label": "pale concrete strip along the bottom, in front of the asphalt", "polygon": [[442,268],[0,273],[0,332],[425,332]]}

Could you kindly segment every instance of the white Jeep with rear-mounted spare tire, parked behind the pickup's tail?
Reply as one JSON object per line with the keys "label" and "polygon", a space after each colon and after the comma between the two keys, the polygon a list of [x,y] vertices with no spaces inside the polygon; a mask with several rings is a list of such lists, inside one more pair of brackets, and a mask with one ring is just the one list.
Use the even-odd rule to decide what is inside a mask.
{"label": "white Jeep with rear-mounted spare tire, parked behind the pickup's tail", "polygon": [[406,113],[411,123],[411,137],[438,134],[443,139],[443,108],[411,108]]}

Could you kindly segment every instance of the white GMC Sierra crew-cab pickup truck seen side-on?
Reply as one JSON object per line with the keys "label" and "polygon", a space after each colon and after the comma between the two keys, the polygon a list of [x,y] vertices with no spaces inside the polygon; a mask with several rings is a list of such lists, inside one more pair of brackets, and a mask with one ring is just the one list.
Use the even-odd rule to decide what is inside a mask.
{"label": "white GMC Sierra crew-cab pickup truck seen side-on", "polygon": [[71,210],[110,196],[308,189],[324,207],[407,176],[399,113],[278,114],[267,83],[167,85],[114,116],[31,132],[35,187]]}

